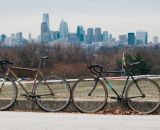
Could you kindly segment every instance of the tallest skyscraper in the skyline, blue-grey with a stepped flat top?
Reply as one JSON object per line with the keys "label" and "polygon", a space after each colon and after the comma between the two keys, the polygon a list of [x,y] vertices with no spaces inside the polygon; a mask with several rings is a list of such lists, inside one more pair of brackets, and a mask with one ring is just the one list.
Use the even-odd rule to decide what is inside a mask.
{"label": "tallest skyscraper in the skyline, blue-grey with a stepped flat top", "polygon": [[49,15],[43,14],[43,20],[41,23],[41,43],[48,43],[49,41],[50,41]]}

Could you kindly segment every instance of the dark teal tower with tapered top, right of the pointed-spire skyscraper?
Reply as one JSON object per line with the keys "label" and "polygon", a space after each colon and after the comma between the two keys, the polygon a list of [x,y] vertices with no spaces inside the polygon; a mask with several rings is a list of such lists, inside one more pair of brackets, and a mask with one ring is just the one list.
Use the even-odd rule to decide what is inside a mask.
{"label": "dark teal tower with tapered top, right of the pointed-spire skyscraper", "polygon": [[80,42],[84,42],[84,29],[83,29],[83,26],[81,25],[78,25],[77,26],[77,33],[76,33],[77,37],[79,38],[79,41]]}

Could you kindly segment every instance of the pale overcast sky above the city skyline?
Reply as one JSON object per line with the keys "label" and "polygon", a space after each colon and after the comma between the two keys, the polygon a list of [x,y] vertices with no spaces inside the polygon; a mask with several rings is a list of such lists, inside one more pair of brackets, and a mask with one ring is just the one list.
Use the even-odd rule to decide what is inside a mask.
{"label": "pale overcast sky above the city skyline", "polygon": [[51,30],[63,18],[70,32],[77,25],[101,27],[113,36],[147,31],[149,39],[160,37],[160,0],[0,0],[0,34],[23,32],[28,38],[40,34],[43,13],[49,13]]}

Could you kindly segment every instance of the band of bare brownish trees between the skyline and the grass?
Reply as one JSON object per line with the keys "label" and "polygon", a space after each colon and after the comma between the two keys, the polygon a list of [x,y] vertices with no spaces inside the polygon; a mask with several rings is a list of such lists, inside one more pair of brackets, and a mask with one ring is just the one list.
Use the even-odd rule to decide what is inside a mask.
{"label": "band of bare brownish trees between the skyline and the grass", "polygon": [[[160,46],[152,47],[101,47],[98,51],[86,50],[77,45],[56,44],[53,47],[42,44],[28,44],[23,47],[0,47],[0,59],[14,61],[16,66],[36,68],[39,58],[49,56],[41,69],[45,74],[53,72],[67,78],[77,78],[86,71],[87,64],[103,65],[105,70],[122,68],[122,55],[128,61],[141,61],[137,74],[160,74]],[[28,72],[18,72],[19,76]]]}

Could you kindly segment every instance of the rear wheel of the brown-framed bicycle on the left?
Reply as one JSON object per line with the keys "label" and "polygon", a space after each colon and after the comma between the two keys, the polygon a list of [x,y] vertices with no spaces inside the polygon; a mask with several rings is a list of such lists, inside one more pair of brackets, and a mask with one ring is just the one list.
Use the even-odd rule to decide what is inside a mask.
{"label": "rear wheel of the brown-framed bicycle on the left", "polygon": [[48,112],[57,112],[69,104],[71,89],[64,79],[50,76],[37,84],[35,94],[40,108]]}

